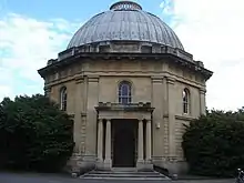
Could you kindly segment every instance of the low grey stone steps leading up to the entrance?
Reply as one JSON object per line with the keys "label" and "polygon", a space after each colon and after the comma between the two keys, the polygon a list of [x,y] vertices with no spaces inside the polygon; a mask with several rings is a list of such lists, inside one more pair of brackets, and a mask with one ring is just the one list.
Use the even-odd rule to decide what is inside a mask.
{"label": "low grey stone steps leading up to the entrance", "polygon": [[111,171],[91,171],[80,179],[94,180],[148,180],[148,181],[169,181],[170,179],[155,171],[140,171],[128,169],[113,169]]}

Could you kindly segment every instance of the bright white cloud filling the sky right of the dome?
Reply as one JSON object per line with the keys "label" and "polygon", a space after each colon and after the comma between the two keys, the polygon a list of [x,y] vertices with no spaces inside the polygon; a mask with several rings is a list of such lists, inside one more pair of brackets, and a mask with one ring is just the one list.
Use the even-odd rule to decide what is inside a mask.
{"label": "bright white cloud filling the sky right of the dome", "polygon": [[[163,2],[161,8],[164,8]],[[174,0],[167,4],[173,29],[185,50],[214,71],[207,81],[210,109],[236,110],[244,105],[244,1]]]}

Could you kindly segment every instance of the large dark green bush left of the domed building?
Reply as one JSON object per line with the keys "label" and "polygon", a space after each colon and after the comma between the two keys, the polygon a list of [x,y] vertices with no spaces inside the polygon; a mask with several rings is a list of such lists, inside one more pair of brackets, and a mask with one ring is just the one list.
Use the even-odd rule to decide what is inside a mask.
{"label": "large dark green bush left of the domed building", "polygon": [[58,171],[73,150],[73,121],[48,98],[9,98],[0,103],[0,164]]}

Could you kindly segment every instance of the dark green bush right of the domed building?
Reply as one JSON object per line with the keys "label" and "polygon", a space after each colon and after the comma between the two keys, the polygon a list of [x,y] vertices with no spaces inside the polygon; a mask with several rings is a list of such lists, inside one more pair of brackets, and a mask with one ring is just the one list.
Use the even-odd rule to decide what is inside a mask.
{"label": "dark green bush right of the domed building", "polygon": [[182,148],[190,172],[207,176],[233,176],[244,166],[244,111],[207,111],[192,121]]}

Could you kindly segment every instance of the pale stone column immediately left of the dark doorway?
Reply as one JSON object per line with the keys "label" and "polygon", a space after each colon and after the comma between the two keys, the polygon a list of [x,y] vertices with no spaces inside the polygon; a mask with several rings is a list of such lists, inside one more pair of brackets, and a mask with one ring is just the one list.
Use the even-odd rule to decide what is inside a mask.
{"label": "pale stone column immediately left of the dark doorway", "polygon": [[105,160],[104,166],[106,169],[111,167],[111,120],[106,120],[106,128],[105,128]]}

